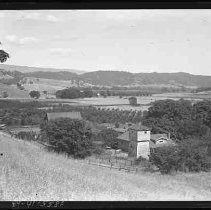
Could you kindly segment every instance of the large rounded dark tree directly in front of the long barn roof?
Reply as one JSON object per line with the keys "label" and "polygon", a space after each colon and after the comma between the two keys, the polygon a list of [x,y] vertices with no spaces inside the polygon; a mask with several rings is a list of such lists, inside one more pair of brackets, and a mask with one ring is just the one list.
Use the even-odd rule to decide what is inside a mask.
{"label": "large rounded dark tree directly in front of the long barn roof", "polygon": [[42,126],[41,132],[47,137],[47,143],[58,152],[66,152],[74,158],[91,154],[92,135],[84,121],[60,118]]}

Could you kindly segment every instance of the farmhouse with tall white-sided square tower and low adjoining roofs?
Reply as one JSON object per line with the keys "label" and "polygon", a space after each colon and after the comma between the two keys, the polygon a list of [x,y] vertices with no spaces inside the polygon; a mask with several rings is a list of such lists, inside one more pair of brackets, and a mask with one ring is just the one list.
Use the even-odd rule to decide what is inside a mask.
{"label": "farmhouse with tall white-sided square tower and low adjoining roofs", "polygon": [[117,137],[117,142],[130,157],[145,159],[157,147],[175,145],[167,134],[151,134],[151,129],[141,124],[130,126],[128,131]]}

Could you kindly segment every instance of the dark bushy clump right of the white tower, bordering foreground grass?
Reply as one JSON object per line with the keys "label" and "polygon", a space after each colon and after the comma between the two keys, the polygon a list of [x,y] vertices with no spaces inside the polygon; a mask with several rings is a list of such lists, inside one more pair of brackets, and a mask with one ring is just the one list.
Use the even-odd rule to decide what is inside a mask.
{"label": "dark bushy clump right of the white tower, bordering foreground grass", "polygon": [[162,174],[208,171],[211,167],[207,146],[199,140],[186,140],[176,147],[156,148],[150,155],[150,162]]}

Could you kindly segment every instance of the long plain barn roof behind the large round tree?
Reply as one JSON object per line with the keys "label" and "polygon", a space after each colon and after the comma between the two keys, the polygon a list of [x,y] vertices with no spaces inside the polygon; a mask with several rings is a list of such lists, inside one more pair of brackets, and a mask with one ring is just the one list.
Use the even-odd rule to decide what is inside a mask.
{"label": "long plain barn roof behind the large round tree", "polygon": [[52,112],[47,113],[47,118],[48,120],[55,120],[58,118],[82,119],[80,112]]}

